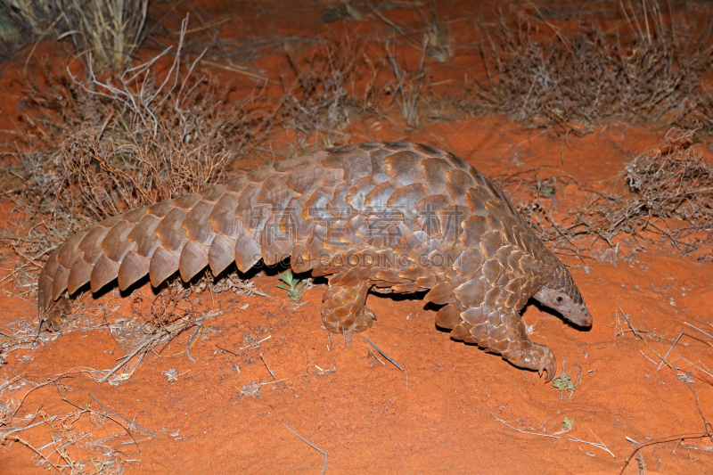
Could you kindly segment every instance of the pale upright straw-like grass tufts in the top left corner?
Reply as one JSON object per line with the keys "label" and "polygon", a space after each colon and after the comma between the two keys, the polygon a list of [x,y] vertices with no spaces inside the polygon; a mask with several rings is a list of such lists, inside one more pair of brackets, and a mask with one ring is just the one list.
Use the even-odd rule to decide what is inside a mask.
{"label": "pale upright straw-like grass tufts in the top left corner", "polygon": [[26,36],[70,38],[87,64],[127,68],[141,45],[148,0],[0,0]]}

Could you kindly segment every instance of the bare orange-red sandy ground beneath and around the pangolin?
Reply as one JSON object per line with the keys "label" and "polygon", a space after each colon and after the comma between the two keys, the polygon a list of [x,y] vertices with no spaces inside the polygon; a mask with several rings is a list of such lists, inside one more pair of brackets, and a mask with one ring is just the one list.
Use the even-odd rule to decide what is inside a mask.
{"label": "bare orange-red sandy ground beneath and around the pangolin", "polygon": [[[310,25],[300,20],[292,28]],[[455,66],[452,78],[462,80]],[[0,80],[12,89],[12,75]],[[4,104],[12,106],[11,99]],[[373,123],[351,125],[349,141],[406,137],[455,152],[489,176],[550,167],[550,174],[608,191],[619,190],[624,164],[662,135],[612,124],[570,136],[562,148],[552,131],[501,118],[418,130],[381,122],[378,131]],[[570,185],[546,204],[566,213],[586,196]],[[0,225],[7,225],[12,204],[0,204]],[[193,340],[194,361],[185,354],[192,332],[185,332],[145,356],[126,381],[97,383],[88,372],[109,369],[130,351],[135,340],[117,328],[145,319],[155,293],[144,285],[130,295],[85,295],[94,318],[46,335],[35,349],[12,351],[0,366],[0,403],[22,403],[12,424],[34,424],[13,434],[24,443],[0,445],[0,473],[46,472],[30,446],[65,473],[70,461],[86,472],[123,462],[125,473],[321,473],[327,454],[332,474],[713,473],[709,438],[654,444],[710,430],[713,338],[696,330],[713,334],[710,265],[674,248],[632,250],[624,241],[615,255],[564,259],[594,316],[591,329],[536,305],[523,312],[536,325],[532,339],[553,349],[560,371],[566,361],[576,381],[563,393],[537,373],[449,340],[433,323],[436,309],[418,295],[370,295],[373,328],[350,343],[330,338],[319,315],[324,282],[296,307],[275,287],[275,273],[252,279],[269,297],[194,296],[198,312],[220,314]],[[13,266],[5,260],[12,259],[3,259],[0,279]],[[3,336],[34,328],[34,297],[12,279],[0,289]],[[374,355],[363,337],[403,371]],[[257,340],[264,341],[250,347]],[[668,365],[660,364],[667,354]],[[37,383],[47,384],[30,391]],[[637,444],[644,447],[627,465]],[[113,464],[102,468],[102,461]]]}

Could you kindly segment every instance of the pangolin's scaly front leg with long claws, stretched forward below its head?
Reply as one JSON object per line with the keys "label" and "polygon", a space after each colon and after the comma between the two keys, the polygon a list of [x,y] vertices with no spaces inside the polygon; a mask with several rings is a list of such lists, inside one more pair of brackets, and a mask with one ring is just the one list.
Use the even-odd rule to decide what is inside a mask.
{"label": "pangolin's scaly front leg with long claws, stretched forward below its head", "polygon": [[486,306],[481,306],[469,308],[460,316],[461,322],[451,332],[455,340],[477,343],[515,366],[536,370],[540,375],[546,371],[545,382],[553,379],[557,371],[553,352],[529,339],[527,326],[517,310],[500,307],[488,312]]}

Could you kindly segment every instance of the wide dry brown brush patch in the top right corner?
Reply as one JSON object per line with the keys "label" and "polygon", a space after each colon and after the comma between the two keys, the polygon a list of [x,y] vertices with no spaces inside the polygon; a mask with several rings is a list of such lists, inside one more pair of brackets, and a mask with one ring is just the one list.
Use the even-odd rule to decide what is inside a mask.
{"label": "wide dry brown brush patch in the top right corner", "polygon": [[488,83],[462,109],[578,133],[609,119],[713,130],[713,101],[701,87],[713,61],[710,31],[671,19],[653,0],[642,4],[648,10],[627,3],[625,27],[613,32],[570,22],[576,31],[567,34],[521,12],[515,24],[501,17],[495,39],[487,34],[480,46]]}

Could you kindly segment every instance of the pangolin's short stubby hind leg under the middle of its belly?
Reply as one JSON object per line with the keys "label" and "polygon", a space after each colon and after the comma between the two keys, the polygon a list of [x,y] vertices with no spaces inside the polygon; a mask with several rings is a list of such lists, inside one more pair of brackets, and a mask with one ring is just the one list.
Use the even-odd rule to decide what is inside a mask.
{"label": "pangolin's short stubby hind leg under the middle of its belly", "polygon": [[322,321],[332,333],[364,332],[375,320],[364,305],[369,283],[344,277],[348,277],[346,272],[330,277],[329,287],[322,295]]}

